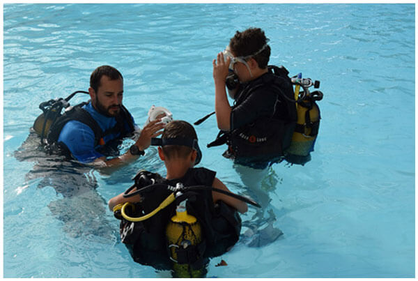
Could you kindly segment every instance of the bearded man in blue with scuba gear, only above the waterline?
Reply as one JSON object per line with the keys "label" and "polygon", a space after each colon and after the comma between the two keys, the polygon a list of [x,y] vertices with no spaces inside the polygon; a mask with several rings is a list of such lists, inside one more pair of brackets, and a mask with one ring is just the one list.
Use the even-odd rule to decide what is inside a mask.
{"label": "bearded man in blue with scuba gear, only above the waterline", "polygon": [[[88,94],[91,100],[69,107],[68,98],[42,102],[43,113],[38,116],[33,129],[42,144],[61,154],[106,172],[127,165],[144,155],[150,139],[162,133],[165,124],[161,119],[150,121],[141,130],[137,141],[123,155],[117,149],[121,139],[138,130],[130,112],[122,104],[123,77],[111,66],[96,68],[90,77]],[[65,112],[61,114],[61,110]],[[117,157],[115,157],[117,156]],[[110,159],[109,159],[110,158]]]}

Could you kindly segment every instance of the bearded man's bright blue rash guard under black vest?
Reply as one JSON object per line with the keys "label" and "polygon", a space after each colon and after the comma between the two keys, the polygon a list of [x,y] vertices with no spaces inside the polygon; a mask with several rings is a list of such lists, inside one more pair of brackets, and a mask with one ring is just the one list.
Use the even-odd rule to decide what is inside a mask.
{"label": "bearded man's bright blue rash guard under black vest", "polygon": [[[116,119],[114,117],[108,117],[98,113],[93,105],[91,105],[91,102],[88,102],[82,108],[91,114],[103,131],[113,128],[116,125]],[[132,116],[131,118],[133,121]],[[106,135],[104,142],[107,143],[112,139],[116,139],[119,135],[120,133]],[[102,153],[96,151],[100,145],[94,147],[95,135],[93,130],[79,121],[68,121],[61,130],[58,142],[63,142],[70,150],[72,156],[82,163],[93,162],[95,159],[104,156]]]}

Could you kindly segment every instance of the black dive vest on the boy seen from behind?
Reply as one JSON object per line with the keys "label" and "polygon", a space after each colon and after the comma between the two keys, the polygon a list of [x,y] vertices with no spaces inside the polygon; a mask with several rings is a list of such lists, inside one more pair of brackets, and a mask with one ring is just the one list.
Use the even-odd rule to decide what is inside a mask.
{"label": "black dive vest on the boy seen from behind", "polygon": [[[134,204],[134,210],[128,210],[131,217],[139,217],[150,213],[161,204],[172,191],[167,185],[176,186],[183,183],[185,187],[194,185],[212,186],[215,172],[206,168],[190,168],[183,178],[176,180],[163,179],[159,174],[143,171],[135,179],[137,185],[144,187],[151,183],[164,183],[155,185],[141,193],[142,201]],[[138,186],[138,188],[141,188]],[[186,194],[186,193],[185,193]],[[187,213],[194,215],[201,225],[203,241],[189,252],[187,257],[202,257],[199,260],[183,260],[182,263],[199,268],[209,257],[224,254],[238,241],[241,231],[241,218],[235,208],[222,201],[212,202],[212,190],[194,191],[193,196],[187,200]],[[171,269],[169,250],[166,238],[166,227],[176,213],[176,204],[170,204],[153,217],[142,222],[121,220],[121,241],[125,243],[134,261],[139,264],[153,266],[156,269]]]}

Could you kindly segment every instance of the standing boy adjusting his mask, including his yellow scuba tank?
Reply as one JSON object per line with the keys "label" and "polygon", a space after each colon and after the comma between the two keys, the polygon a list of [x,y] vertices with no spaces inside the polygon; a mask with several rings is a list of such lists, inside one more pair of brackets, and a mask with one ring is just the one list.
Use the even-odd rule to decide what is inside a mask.
{"label": "standing boy adjusting his mask, including his yellow scuba tank", "polygon": [[290,78],[283,66],[268,66],[268,41],[258,28],[237,31],[213,60],[215,114],[221,131],[208,147],[227,144],[224,157],[255,169],[265,169],[284,157],[304,165],[318,135],[320,114],[315,100],[322,99],[323,93],[309,92],[309,86],[319,87],[318,81],[302,79],[301,74]]}

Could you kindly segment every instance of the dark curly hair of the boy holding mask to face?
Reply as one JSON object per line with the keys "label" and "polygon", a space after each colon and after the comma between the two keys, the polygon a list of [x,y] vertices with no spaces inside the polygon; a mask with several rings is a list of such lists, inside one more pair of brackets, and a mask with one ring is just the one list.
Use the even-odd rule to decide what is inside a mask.
{"label": "dark curly hair of the boy holding mask to face", "polygon": [[[229,47],[235,56],[249,56],[261,50],[268,40],[262,29],[249,28],[242,32],[237,31],[229,41]],[[270,51],[270,46],[267,46],[260,54],[252,56],[259,68],[267,67]]]}

